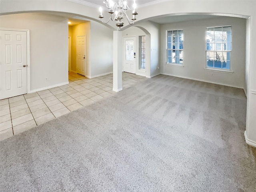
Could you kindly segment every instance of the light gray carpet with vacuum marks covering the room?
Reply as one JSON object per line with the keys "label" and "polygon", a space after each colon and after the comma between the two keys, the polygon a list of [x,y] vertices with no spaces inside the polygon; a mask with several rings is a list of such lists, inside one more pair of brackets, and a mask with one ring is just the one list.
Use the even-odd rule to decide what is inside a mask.
{"label": "light gray carpet with vacuum marks covering the room", "polygon": [[159,75],[0,142],[1,191],[254,192],[242,89]]}

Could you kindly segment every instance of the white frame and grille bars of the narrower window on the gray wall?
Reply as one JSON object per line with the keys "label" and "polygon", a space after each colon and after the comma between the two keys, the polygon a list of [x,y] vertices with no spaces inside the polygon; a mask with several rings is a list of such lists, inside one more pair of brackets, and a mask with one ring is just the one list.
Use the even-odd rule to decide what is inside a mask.
{"label": "white frame and grille bars of the narrower window on the gray wall", "polygon": [[[182,36],[183,36],[183,42],[182,42],[182,49],[180,49],[180,46],[179,46],[179,48],[178,49],[176,49],[176,47],[175,48],[173,48],[173,46],[171,46],[171,48],[170,49],[168,49],[168,32],[169,31],[172,31],[172,34],[173,34],[173,32],[174,31],[177,31],[178,32],[178,35],[179,35],[179,31],[182,31]],[[177,36],[178,36],[177,35]],[[177,43],[177,42],[169,42],[169,43]],[[180,42],[178,42],[178,44],[180,45]],[[173,51],[179,51],[179,57],[178,58],[180,58],[180,51],[182,51],[182,63],[174,63],[174,62],[168,62],[168,51],[171,51],[171,52],[173,52]],[[172,65],[172,66],[178,66],[178,67],[184,67],[184,62],[183,62],[183,60],[184,60],[184,30],[183,29],[174,29],[174,30],[166,30],[166,65]]]}

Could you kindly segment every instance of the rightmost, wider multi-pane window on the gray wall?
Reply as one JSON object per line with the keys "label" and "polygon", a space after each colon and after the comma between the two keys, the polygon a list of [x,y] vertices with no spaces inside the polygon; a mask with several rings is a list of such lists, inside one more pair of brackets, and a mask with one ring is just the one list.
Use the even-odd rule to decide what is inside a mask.
{"label": "rightmost, wider multi-pane window on the gray wall", "polygon": [[206,68],[230,70],[231,26],[206,28]]}

